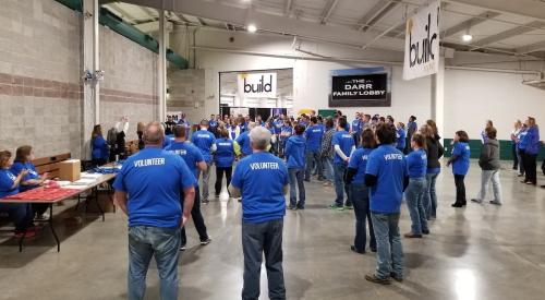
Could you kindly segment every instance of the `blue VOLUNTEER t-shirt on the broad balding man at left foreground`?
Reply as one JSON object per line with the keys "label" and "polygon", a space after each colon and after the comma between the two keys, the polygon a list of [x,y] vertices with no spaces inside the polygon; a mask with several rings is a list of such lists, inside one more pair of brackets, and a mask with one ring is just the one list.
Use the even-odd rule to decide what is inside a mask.
{"label": "blue VOLUNTEER t-shirt on the broad balding man at left foreground", "polygon": [[146,147],[126,158],[113,189],[129,195],[129,227],[179,228],[180,191],[195,184],[195,176],[179,155]]}

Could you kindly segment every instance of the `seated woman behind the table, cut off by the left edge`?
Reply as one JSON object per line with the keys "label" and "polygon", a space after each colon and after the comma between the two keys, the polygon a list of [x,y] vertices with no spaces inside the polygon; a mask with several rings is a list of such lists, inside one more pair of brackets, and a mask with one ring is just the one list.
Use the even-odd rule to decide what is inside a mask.
{"label": "seated woman behind the table, cut off by the left edge", "polygon": [[[10,171],[11,152],[0,152],[0,199],[19,193],[19,184],[28,173],[27,170],[22,170],[19,176],[14,176]],[[27,238],[36,236],[35,230],[27,230],[32,223],[32,208],[26,203],[5,203],[0,200],[0,212],[8,213],[10,219],[15,224],[15,237],[21,238],[25,230]]]}

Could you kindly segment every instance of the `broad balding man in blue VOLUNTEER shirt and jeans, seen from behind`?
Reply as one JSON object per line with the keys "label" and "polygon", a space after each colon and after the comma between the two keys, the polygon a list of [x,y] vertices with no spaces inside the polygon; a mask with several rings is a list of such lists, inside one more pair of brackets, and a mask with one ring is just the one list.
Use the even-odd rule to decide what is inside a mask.
{"label": "broad balding man in blue VOLUNTEER shirt and jeans, seen from behind", "polygon": [[146,147],[125,160],[113,182],[116,202],[129,216],[129,299],[144,299],[154,255],[160,299],[178,299],[180,228],[190,218],[195,177],[180,156],[161,149],[164,139],[159,122],[146,125]]}

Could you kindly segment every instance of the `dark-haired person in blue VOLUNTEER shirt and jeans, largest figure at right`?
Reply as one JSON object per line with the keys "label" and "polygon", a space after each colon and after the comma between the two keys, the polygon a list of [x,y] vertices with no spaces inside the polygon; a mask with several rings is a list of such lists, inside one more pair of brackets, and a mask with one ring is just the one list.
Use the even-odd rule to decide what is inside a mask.
{"label": "dark-haired person in blue VOLUNTEER shirt and jeans, largest figure at right", "polygon": [[377,284],[389,284],[390,277],[403,280],[403,248],[399,235],[399,215],[403,190],[409,184],[407,161],[392,144],[396,127],[379,124],[376,129],[378,148],[367,160],[365,184],[370,187],[371,218],[377,241],[376,272],[365,279]]}

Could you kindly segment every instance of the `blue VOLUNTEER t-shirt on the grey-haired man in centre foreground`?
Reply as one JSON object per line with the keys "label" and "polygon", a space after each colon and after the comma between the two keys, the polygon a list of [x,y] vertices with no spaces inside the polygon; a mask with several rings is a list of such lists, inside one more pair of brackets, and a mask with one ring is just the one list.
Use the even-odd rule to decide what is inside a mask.
{"label": "blue VOLUNTEER t-shirt on the grey-haired man in centre foreground", "polygon": [[283,187],[288,182],[286,165],[272,154],[259,152],[242,159],[231,180],[231,184],[242,192],[242,220],[282,219],[286,215]]}

